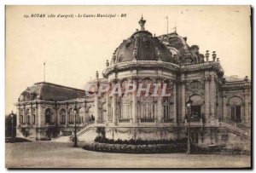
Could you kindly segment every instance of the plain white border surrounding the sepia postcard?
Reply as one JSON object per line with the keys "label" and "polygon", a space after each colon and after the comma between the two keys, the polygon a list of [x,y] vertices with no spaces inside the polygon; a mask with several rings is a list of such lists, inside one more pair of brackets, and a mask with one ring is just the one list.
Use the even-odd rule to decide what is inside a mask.
{"label": "plain white border surrounding the sepia postcard", "polygon": [[[165,0],[142,0],[138,2],[137,0],[130,0],[130,1],[104,1],[104,0],[94,0],[94,1],[79,1],[79,0],[42,0],[42,1],[33,1],[33,0],[20,0],[20,1],[15,1],[15,0],[2,0],[0,1],[0,16],[1,16],[1,24],[0,24],[0,111],[1,111],[1,116],[0,118],[0,125],[2,127],[2,132],[0,133],[1,137],[1,144],[0,144],[0,165],[1,165],[1,172],[6,172],[8,170],[5,169],[5,146],[4,146],[4,107],[5,107],[5,55],[4,55],[4,11],[5,11],[5,5],[252,5],[255,8],[256,1],[253,0],[233,0],[233,1],[223,1],[223,0],[215,0],[215,1],[205,1],[205,0],[194,0],[194,1],[189,1],[189,0],[172,0],[170,1],[165,1]],[[253,17],[253,23],[255,23],[255,17]],[[253,28],[254,31],[254,28]],[[254,38],[254,37],[253,37]],[[255,49],[255,44],[253,45],[253,49]],[[253,62],[253,66],[255,65],[255,61]],[[253,80],[255,78],[255,73],[253,72]],[[253,88],[255,89],[255,88]],[[254,93],[255,95],[255,93]],[[254,96],[253,95],[253,96]],[[253,107],[256,107],[256,104],[253,103]],[[253,115],[252,115],[253,116]],[[255,118],[253,118],[254,120]],[[255,129],[255,128],[254,128]],[[255,139],[255,133],[253,136]],[[253,148],[255,151],[255,147]],[[254,152],[255,154],[255,152]],[[253,155],[254,155],[253,154]],[[253,159],[254,160],[254,159]],[[19,170],[20,171],[20,170]],[[38,171],[38,170],[33,170],[33,171]],[[41,172],[53,172],[54,170],[40,170]],[[73,170],[68,170],[68,172],[71,172]],[[92,170],[86,170],[87,172],[92,172]],[[100,170],[97,170],[100,171]],[[121,171],[121,170],[119,170]],[[137,172],[138,170],[130,170],[132,172]],[[173,170],[171,170],[173,171]],[[188,170],[186,170],[188,171]],[[208,170],[203,170],[203,171],[208,171]],[[227,170],[216,170],[218,172],[224,172]],[[233,171],[233,170],[228,170],[228,171]],[[245,172],[246,170],[242,170],[241,172]],[[95,171],[94,171],[95,172]]]}

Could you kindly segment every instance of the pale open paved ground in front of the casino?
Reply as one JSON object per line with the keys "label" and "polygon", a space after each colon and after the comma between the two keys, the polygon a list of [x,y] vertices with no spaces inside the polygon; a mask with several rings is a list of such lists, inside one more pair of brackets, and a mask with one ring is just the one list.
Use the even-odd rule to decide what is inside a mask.
{"label": "pale open paved ground in front of the casino", "polygon": [[189,168],[249,167],[250,156],[220,154],[96,153],[74,148],[72,143],[33,141],[6,143],[8,168]]}

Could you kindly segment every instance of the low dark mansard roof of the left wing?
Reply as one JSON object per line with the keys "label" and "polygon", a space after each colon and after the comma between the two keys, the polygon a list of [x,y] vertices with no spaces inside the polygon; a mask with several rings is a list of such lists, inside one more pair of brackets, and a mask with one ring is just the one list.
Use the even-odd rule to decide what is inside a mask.
{"label": "low dark mansard roof of the left wing", "polygon": [[20,101],[64,101],[84,97],[83,89],[74,89],[71,87],[51,84],[51,83],[36,83],[28,87],[20,95]]}

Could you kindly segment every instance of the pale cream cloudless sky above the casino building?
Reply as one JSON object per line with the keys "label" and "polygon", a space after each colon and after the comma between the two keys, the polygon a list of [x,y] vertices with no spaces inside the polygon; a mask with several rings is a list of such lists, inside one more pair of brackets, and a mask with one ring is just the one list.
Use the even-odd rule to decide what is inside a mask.
{"label": "pale cream cloudless sky above the casino building", "polygon": [[[31,17],[55,14],[55,17]],[[116,14],[116,17],[57,17],[59,14]],[[126,17],[121,17],[126,14]],[[248,6],[8,6],[6,8],[6,113],[20,93],[46,82],[84,89],[102,73],[114,49],[140,28],[166,34],[177,26],[187,43],[216,51],[226,76],[251,78],[251,28]],[[30,16],[26,18],[26,16]],[[100,76],[102,77],[102,76]]]}

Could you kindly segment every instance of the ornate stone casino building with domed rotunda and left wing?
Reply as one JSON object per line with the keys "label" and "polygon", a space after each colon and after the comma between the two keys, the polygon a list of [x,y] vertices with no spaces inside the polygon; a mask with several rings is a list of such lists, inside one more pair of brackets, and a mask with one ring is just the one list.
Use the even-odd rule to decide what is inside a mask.
{"label": "ornate stone casino building with domed rotunda and left wing", "polygon": [[[37,83],[20,94],[17,134],[31,140],[79,141],[103,132],[109,139],[177,139],[198,145],[250,145],[251,81],[224,77],[215,51],[201,54],[187,37],[159,37],[139,20],[134,32],[114,50],[94,84],[169,84],[171,96],[85,96],[84,90]],[[97,91],[94,91],[97,92]],[[189,104],[188,104],[189,103]]]}

